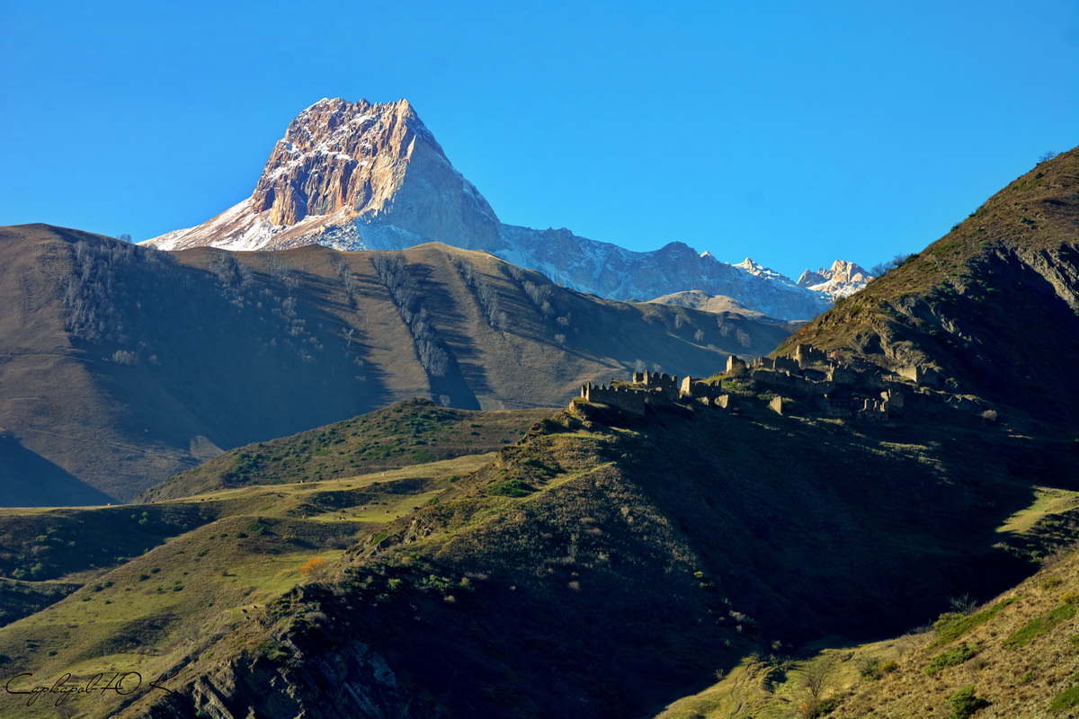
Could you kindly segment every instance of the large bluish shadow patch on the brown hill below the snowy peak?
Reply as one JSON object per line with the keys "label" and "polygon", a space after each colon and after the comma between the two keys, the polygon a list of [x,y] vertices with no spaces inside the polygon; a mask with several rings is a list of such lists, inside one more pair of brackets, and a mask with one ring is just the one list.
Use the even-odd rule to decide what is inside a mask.
{"label": "large bluish shadow patch on the brown hill below the snowy peak", "polygon": [[[236,257],[227,257],[233,267],[252,262]],[[332,312],[342,293],[330,280],[295,268],[286,284],[255,269],[230,279],[220,266],[149,275],[134,265],[114,268],[111,312],[138,358],[124,363],[114,352],[125,346],[107,341],[84,345],[133,437],[185,455],[195,435],[230,448],[390,401],[382,372],[364,361],[360,323]]]}

